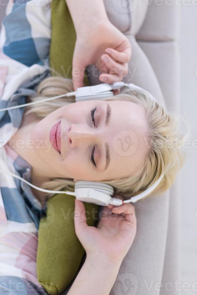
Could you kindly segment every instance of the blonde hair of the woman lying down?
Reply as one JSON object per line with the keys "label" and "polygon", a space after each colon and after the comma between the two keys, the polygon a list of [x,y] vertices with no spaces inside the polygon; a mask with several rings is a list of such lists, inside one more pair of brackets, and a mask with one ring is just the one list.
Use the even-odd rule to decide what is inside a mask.
{"label": "blonde hair of the woman lying down", "polygon": [[[49,77],[43,80],[37,88],[37,96],[31,97],[32,101],[52,97],[73,91],[70,79],[63,77]],[[183,165],[184,153],[181,150],[183,137],[178,132],[178,120],[166,111],[157,101],[152,99],[148,92],[124,89],[120,94],[106,98],[105,101],[132,101],[140,104],[146,113],[149,127],[149,148],[145,160],[135,175],[105,181],[114,187],[115,194],[125,197],[144,191],[164,173],[155,191],[166,191],[175,181],[177,172]],[[75,102],[74,97],[64,97],[28,108],[27,113],[35,113],[39,118],[44,118],[59,107]],[[43,188],[52,190],[73,190],[72,179],[52,179],[42,185]]]}

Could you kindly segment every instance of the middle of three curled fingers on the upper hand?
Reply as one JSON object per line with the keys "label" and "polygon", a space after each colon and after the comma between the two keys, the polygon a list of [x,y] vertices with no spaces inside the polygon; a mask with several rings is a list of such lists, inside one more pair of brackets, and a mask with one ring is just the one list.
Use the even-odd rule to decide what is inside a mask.
{"label": "middle of three curled fingers on the upper hand", "polygon": [[103,54],[101,59],[110,71],[110,74],[126,76],[128,73],[128,64],[119,64],[114,61],[108,54]]}

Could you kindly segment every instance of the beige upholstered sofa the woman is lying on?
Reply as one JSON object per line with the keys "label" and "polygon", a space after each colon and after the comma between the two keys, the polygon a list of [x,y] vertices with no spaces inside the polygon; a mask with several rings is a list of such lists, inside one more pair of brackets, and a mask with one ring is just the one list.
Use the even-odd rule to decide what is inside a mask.
{"label": "beige upholstered sofa the woman is lying on", "polygon": [[[145,88],[170,111],[178,113],[179,7],[173,1],[154,0],[147,4],[148,0],[105,0],[105,7],[111,22],[124,32],[132,45],[125,81]],[[1,6],[0,20],[4,11],[5,6]],[[99,81],[92,78],[92,84],[96,83]],[[135,207],[136,238],[110,295],[167,295],[170,290],[176,295],[180,293],[175,288],[176,280],[181,281],[178,178],[168,192],[141,200]],[[159,283],[163,284],[161,290]]]}

